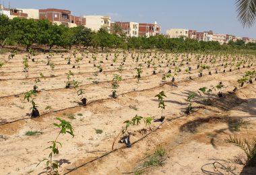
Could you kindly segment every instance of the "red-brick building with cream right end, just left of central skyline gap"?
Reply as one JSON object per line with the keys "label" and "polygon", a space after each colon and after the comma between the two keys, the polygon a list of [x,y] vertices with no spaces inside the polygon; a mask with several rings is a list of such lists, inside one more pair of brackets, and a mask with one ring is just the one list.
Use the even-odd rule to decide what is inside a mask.
{"label": "red-brick building with cream right end, just left of central skyline gap", "polygon": [[158,36],[161,34],[161,26],[155,22],[154,24],[139,23],[139,36]]}

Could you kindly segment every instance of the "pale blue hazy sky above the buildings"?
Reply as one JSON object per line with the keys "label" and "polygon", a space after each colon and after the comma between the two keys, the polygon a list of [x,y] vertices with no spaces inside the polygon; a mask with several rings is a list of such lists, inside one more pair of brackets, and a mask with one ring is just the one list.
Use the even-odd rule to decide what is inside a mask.
{"label": "pale blue hazy sky above the buildings", "polygon": [[[0,0],[3,2],[3,0]],[[69,9],[75,15],[110,15],[112,21],[158,22],[168,28],[213,30],[256,38],[256,24],[243,28],[236,18],[235,0],[9,0],[11,7]],[[5,0],[5,5],[8,1]]]}

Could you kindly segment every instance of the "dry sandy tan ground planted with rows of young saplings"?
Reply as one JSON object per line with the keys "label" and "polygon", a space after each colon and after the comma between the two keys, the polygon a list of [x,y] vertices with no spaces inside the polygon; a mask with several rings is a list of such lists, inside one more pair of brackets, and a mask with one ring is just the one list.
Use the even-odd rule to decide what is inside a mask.
{"label": "dry sandy tan ground planted with rows of young saplings", "polygon": [[[205,70],[205,75],[199,78],[193,56],[191,65],[183,65],[181,73],[175,76],[178,85],[178,88],[175,88],[170,85],[170,79],[167,79],[166,82],[161,81],[162,73],[159,73],[167,72],[170,69],[170,63],[166,63],[165,59],[164,63],[157,63],[162,66],[157,68],[157,75],[152,75],[154,69],[146,68],[144,61],[147,59],[142,59],[143,61],[141,60],[139,63],[143,64],[143,73],[137,89],[134,76],[136,75],[135,67],[139,63],[133,63],[131,55],[129,55],[122,73],[123,80],[117,90],[119,97],[113,99],[110,98],[111,80],[114,73],[119,73],[117,69],[121,63],[121,56],[111,67],[113,54],[108,61],[104,59],[104,55],[98,55],[96,65],[103,67],[103,72],[98,76],[98,81],[100,81],[98,84],[92,83],[91,79],[95,71],[93,63],[88,63],[91,54],[88,59],[85,58],[82,61],[80,69],[71,69],[72,64],[66,65],[61,55],[55,55],[53,59],[56,64],[53,73],[55,77],[50,77],[49,66],[45,65],[46,55],[37,55],[37,62],[30,63],[32,66],[28,79],[22,73],[22,57],[24,55],[18,55],[2,67],[0,69],[0,79],[2,79],[0,81],[1,172],[3,174],[39,174],[43,172],[44,164],[40,164],[38,167],[36,165],[49,154],[49,151],[43,151],[45,147],[49,146],[47,141],[55,139],[58,133],[58,129],[53,126],[53,122],[57,122],[56,117],[69,120],[75,128],[75,137],[61,135],[59,138],[63,147],[61,147],[59,155],[55,156],[55,160],[62,162],[61,174],[69,172],[69,170],[72,170],[70,174],[122,174],[122,172],[135,171],[141,163],[137,161],[148,153],[152,153],[156,147],[166,149],[168,155],[166,165],[146,170],[145,174],[202,174],[201,166],[214,160],[233,169],[236,167],[236,173],[242,171],[243,165],[236,164],[234,160],[236,156],[240,156],[243,160],[245,158],[243,151],[227,144],[224,139],[230,133],[245,135],[244,128],[240,132],[232,131],[230,126],[234,123],[230,124],[230,120],[237,117],[251,120],[255,117],[256,90],[254,84],[245,84],[245,87],[238,88],[236,94],[228,92],[232,92],[234,86],[238,86],[236,81],[245,71],[252,70],[254,67],[215,74],[213,73],[215,69],[223,71],[223,67],[220,67],[221,63],[216,63],[217,68],[212,67],[213,75],[206,75],[207,70]],[[6,55],[0,58],[6,60]],[[173,59],[174,55],[169,55],[168,58]],[[99,63],[99,61],[104,61],[104,63]],[[178,63],[181,63],[181,55],[179,55]],[[168,67],[164,67],[166,64]],[[188,66],[193,69],[190,75],[193,77],[193,81],[189,80],[189,75],[185,73]],[[171,69],[173,72],[174,67],[172,66]],[[64,88],[65,73],[69,70],[75,73],[73,79],[82,81],[82,88],[86,90],[85,96],[89,102],[88,106],[80,106],[77,103],[79,98],[75,90]],[[40,92],[35,99],[41,116],[40,118],[26,119],[29,118],[27,113],[30,112],[30,104],[23,100],[23,94],[32,89],[34,78],[38,77],[39,72],[47,76],[38,84]],[[166,92],[167,96],[164,115],[171,119],[183,115],[187,107],[189,92],[197,92],[203,86],[217,85],[220,81],[227,87],[224,89],[226,98],[219,99],[216,96],[217,92],[214,92],[212,95],[214,103],[212,106],[205,106],[202,104],[201,98],[197,97],[193,106],[199,110],[196,110],[195,113],[177,120],[166,120],[162,126],[160,126],[161,123],[154,122],[152,128],[156,129],[159,126],[160,128],[135,143],[131,148],[119,149],[86,164],[111,151],[113,140],[124,126],[125,120],[131,120],[136,114],[160,118],[158,101],[154,96],[162,90]],[[135,89],[137,92],[134,91]],[[15,94],[18,96],[14,96]],[[203,96],[203,98],[206,97]],[[46,106],[52,106],[52,109],[45,110]],[[135,108],[131,106],[135,106]],[[68,118],[69,114],[74,114],[75,118]],[[212,122],[199,120],[199,118],[216,116],[219,118],[211,120]],[[227,117],[229,118],[220,119]],[[255,122],[249,122],[248,130],[251,135],[255,133],[253,126],[255,126]],[[132,143],[143,137],[137,132],[143,128],[146,129],[143,123],[138,127],[131,128]],[[96,134],[96,129],[102,129],[103,133]],[[26,131],[40,131],[42,135],[26,136]],[[115,143],[115,148],[122,146],[123,144]],[[86,164],[86,166],[79,167],[82,164]]]}

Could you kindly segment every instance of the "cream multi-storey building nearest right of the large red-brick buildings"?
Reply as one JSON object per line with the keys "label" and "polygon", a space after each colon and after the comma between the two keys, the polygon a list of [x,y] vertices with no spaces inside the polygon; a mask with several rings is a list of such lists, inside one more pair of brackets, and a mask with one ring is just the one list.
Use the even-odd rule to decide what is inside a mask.
{"label": "cream multi-storey building nearest right of the large red-brick buildings", "polygon": [[86,28],[98,32],[100,28],[106,28],[110,32],[111,18],[105,15],[84,15],[86,18]]}

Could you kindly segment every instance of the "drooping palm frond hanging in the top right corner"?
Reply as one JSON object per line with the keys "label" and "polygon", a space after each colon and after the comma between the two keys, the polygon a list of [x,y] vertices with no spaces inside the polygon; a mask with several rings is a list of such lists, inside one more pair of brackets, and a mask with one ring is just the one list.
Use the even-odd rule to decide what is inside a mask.
{"label": "drooping palm frond hanging in the top right corner", "polygon": [[236,0],[236,11],[243,27],[250,28],[256,20],[256,0]]}

